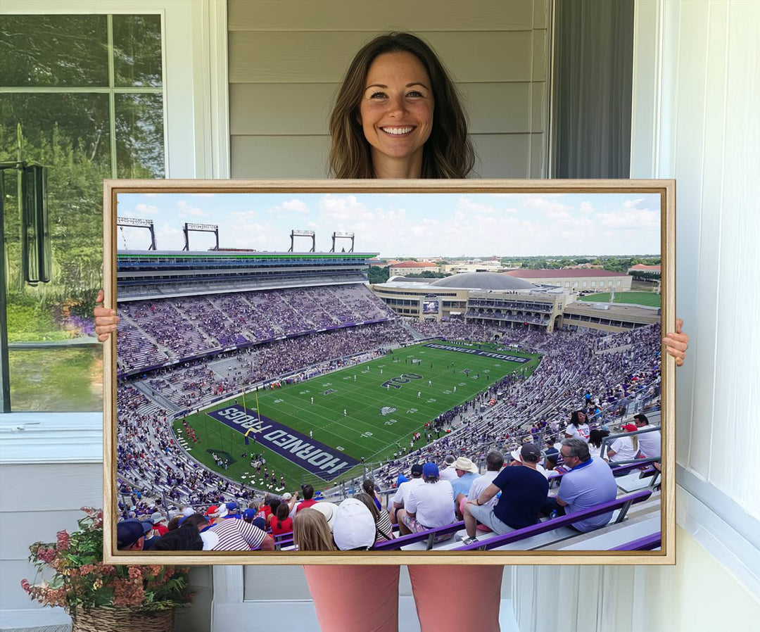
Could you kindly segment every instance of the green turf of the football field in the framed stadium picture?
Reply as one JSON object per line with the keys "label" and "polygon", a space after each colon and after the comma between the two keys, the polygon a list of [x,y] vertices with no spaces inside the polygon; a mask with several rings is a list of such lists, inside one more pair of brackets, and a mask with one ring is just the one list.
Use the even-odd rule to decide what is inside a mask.
{"label": "green turf of the football field in the framed stadium picture", "polygon": [[[461,351],[434,349],[425,347],[426,344],[448,345]],[[472,349],[525,357],[528,361],[518,363],[462,352]],[[538,354],[505,351],[498,345],[467,346],[426,341],[423,345],[401,348],[365,364],[311,380],[260,390],[258,410],[262,417],[306,437],[311,431],[315,440],[340,453],[357,460],[364,458],[367,463],[377,462],[393,456],[399,450],[399,444],[408,449],[416,431],[423,432],[424,437],[426,422],[472,399],[512,371],[524,370],[526,376],[530,375],[539,361]],[[251,392],[188,415],[185,419],[195,430],[197,443],[185,433],[182,420],[175,421],[174,429],[180,442],[183,445],[186,442],[192,457],[208,468],[252,487],[281,492],[296,490],[305,481],[313,483],[315,476],[300,465],[253,440],[245,445],[240,430],[207,414],[230,405],[243,405],[244,399],[245,408],[257,408],[255,395]],[[418,440],[415,449],[424,443],[426,440]],[[226,469],[216,465],[214,453],[228,461]],[[277,484],[271,485],[257,475],[251,466],[253,453],[263,454],[270,472],[274,468]],[[357,465],[340,478],[356,476],[361,469],[362,466]],[[284,490],[279,484],[280,476],[286,480]]]}

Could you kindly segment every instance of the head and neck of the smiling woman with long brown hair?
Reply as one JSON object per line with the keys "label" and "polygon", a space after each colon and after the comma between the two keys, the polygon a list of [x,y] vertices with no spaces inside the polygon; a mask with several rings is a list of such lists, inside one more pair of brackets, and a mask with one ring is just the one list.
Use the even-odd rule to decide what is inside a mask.
{"label": "head and neck of the smiling woman with long brown hair", "polygon": [[337,178],[465,178],[475,163],[454,82],[411,33],[375,37],[356,53],[330,135]]}

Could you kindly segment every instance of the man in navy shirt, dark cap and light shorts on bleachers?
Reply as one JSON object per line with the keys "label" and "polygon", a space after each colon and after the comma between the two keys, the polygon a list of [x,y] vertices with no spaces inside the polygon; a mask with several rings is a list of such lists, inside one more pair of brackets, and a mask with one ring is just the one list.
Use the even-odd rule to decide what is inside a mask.
{"label": "man in navy shirt, dark cap and light shorts on bleachers", "polygon": [[[537,470],[540,459],[540,449],[534,443],[524,443],[520,460],[502,469],[474,502],[470,500],[464,505],[464,526],[467,529],[464,544],[477,540],[477,522],[498,535],[538,522],[546,494],[549,494],[549,481]],[[499,491],[502,492],[499,502],[487,505]]]}

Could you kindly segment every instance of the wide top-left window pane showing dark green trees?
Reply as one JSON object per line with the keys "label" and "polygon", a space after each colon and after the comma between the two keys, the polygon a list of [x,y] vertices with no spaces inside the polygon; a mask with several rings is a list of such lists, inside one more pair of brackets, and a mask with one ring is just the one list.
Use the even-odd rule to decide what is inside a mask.
{"label": "wide top-left window pane showing dark green trees", "polygon": [[3,15],[0,85],[108,86],[105,15]]}

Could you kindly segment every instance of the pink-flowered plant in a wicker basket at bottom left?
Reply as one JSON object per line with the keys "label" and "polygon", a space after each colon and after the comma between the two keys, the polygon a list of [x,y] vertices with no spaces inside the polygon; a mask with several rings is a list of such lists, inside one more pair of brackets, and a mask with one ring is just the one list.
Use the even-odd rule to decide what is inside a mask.
{"label": "pink-flowered plant in a wicker basket at bottom left", "polygon": [[43,605],[65,608],[72,632],[171,632],[174,608],[192,600],[188,569],[103,564],[103,512],[82,511],[78,531],[29,547],[40,583],[21,580],[21,587]]}

